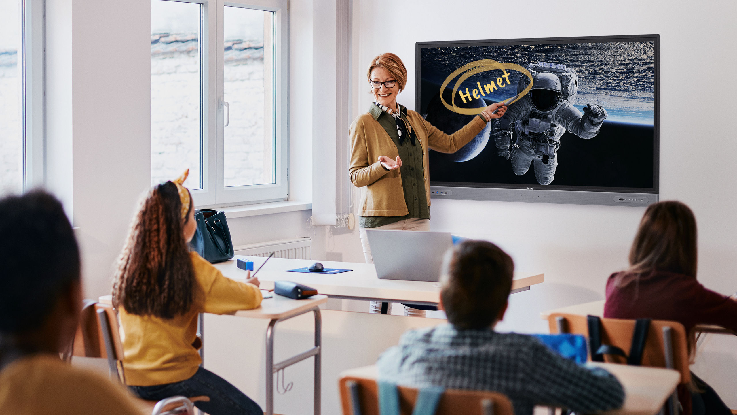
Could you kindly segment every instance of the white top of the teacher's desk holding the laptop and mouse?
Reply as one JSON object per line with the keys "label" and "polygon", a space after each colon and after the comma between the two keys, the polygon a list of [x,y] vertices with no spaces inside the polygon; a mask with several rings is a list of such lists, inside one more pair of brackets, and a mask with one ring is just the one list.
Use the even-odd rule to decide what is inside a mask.
{"label": "white top of the teacher's desk holding the laptop and mouse", "polygon": [[[258,270],[266,258],[260,256],[241,256],[214,264],[228,278],[243,281],[245,271],[236,266],[237,258],[254,261]],[[440,301],[440,284],[427,281],[383,280],[376,275],[374,264],[358,262],[321,261],[326,268],[352,270],[340,274],[320,274],[318,272],[286,272],[296,268],[309,267],[315,261],[306,259],[271,258],[256,275],[262,281],[261,288],[273,288],[273,281],[294,281],[318,290],[329,298],[347,300],[389,301],[397,303],[436,306]],[[251,272],[253,273],[253,272]],[[531,285],[545,281],[545,274],[515,272],[512,292],[530,289]]]}

